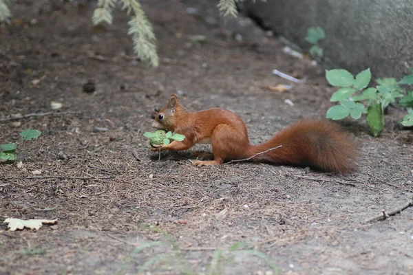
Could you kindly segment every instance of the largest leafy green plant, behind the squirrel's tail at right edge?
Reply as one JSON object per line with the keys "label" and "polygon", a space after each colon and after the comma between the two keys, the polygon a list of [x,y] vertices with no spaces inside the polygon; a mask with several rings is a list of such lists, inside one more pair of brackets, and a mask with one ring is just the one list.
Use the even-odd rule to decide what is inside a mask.
{"label": "largest leafy green plant, behind the squirrel's tail at right edge", "polygon": [[[405,76],[399,83],[395,78],[379,78],[376,87],[368,87],[372,74],[370,69],[354,76],[345,69],[331,69],[326,71],[328,83],[340,89],[332,94],[330,101],[339,102],[327,111],[327,118],[341,120],[350,115],[354,120],[366,114],[366,122],[374,137],[379,135],[384,127],[384,111],[391,103],[399,104],[403,107],[413,107],[413,91],[403,95],[404,90],[399,86],[403,84],[413,84],[412,74]],[[367,107],[366,107],[367,106]],[[413,126],[412,110],[403,118],[403,126]]]}

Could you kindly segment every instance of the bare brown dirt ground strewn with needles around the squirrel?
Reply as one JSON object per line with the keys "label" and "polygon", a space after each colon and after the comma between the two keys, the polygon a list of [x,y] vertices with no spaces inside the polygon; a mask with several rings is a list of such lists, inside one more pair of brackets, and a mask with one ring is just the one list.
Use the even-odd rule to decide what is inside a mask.
{"label": "bare brown dirt ground strewn with needles around the squirrel", "polygon": [[[193,168],[189,153],[158,161],[142,133],[171,93],[189,109],[234,111],[256,144],[299,118],[324,117],[334,89],[321,66],[284,54],[249,19],[220,18],[215,1],[142,4],[158,38],[156,69],[131,58],[123,12],[93,28],[94,3],[12,5],[19,20],[0,29],[0,118],[48,112],[52,100],[64,107],[0,122],[0,143],[19,144],[17,162],[0,166],[0,221],[59,223],[37,232],[1,224],[0,274],[413,274],[413,208],[365,223],[412,199],[413,135],[396,126],[399,111],[376,139],[363,121],[341,122],[360,154],[346,177],[250,163]],[[191,44],[198,34],[207,43]],[[273,69],[307,81],[268,91],[291,84]],[[94,94],[82,91],[89,79]],[[22,144],[29,128],[43,134]]]}

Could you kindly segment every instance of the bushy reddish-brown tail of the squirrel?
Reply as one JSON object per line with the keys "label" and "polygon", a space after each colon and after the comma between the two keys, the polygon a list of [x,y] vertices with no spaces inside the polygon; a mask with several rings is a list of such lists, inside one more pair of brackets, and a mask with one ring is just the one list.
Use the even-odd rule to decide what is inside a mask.
{"label": "bushy reddish-brown tail of the squirrel", "polygon": [[[267,153],[256,155],[268,149]],[[287,126],[271,140],[251,145],[253,162],[310,166],[330,173],[346,174],[355,167],[355,144],[341,127],[328,120],[305,119]]]}

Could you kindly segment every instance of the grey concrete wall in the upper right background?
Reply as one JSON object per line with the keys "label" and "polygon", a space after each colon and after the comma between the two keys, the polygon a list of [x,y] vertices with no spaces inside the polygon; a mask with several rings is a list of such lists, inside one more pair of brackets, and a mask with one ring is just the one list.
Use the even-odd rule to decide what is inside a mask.
{"label": "grey concrete wall in the upper right background", "polygon": [[240,8],[304,50],[307,29],[323,28],[335,67],[396,78],[413,67],[413,0],[248,0]]}

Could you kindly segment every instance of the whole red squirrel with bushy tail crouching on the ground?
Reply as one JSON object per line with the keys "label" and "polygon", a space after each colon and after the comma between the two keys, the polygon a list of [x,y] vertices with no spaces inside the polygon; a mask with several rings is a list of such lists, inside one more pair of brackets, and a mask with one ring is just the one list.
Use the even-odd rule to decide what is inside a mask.
{"label": "whole red squirrel with bushy tail crouching on the ground", "polygon": [[[213,160],[195,160],[193,166],[252,157],[252,162],[310,166],[339,174],[350,173],[355,167],[354,142],[338,124],[328,120],[300,120],[279,131],[271,140],[252,145],[244,122],[235,113],[218,108],[191,112],[173,94],[158,111],[152,126],[185,136],[182,142],[174,140],[167,145],[152,147],[152,151],[182,151],[197,143],[211,144]],[[275,148],[277,146],[280,147]],[[272,148],[275,149],[262,153]]]}

